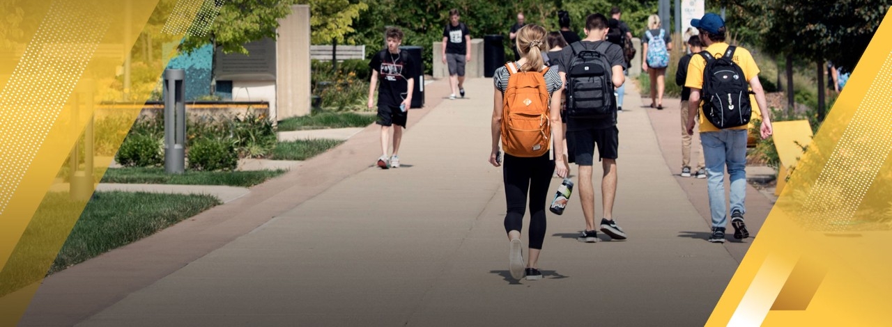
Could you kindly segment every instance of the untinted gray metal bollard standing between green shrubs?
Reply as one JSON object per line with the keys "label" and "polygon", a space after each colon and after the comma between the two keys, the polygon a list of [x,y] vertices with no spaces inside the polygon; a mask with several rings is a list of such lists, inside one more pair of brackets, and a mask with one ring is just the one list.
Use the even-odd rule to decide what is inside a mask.
{"label": "untinted gray metal bollard standing between green shrubs", "polygon": [[183,69],[164,70],[164,171],[186,169],[186,86]]}

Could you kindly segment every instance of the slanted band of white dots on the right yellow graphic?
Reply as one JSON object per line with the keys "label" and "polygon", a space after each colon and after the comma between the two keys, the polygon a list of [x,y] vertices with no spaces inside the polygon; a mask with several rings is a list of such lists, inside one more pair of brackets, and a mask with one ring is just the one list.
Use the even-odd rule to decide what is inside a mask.
{"label": "slanted band of white dots on the right yellow graphic", "polygon": [[892,53],[880,68],[805,200],[808,229],[841,232],[892,152]]}

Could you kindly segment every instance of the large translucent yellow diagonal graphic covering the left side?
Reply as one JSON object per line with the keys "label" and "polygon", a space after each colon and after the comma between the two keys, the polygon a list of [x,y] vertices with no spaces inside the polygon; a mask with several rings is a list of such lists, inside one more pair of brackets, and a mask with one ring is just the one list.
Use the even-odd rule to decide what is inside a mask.
{"label": "large translucent yellow diagonal graphic covering the left side", "polygon": [[[0,325],[14,325],[28,307],[156,88],[170,58],[161,49],[183,37],[161,33],[177,3],[12,4],[39,24],[0,42]],[[181,9],[192,19],[201,4]]]}

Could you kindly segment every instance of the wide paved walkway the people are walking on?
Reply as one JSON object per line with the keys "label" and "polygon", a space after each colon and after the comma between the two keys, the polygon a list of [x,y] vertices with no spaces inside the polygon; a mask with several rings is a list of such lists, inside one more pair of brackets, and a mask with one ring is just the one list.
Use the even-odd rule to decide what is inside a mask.
{"label": "wide paved walkway the people are walking on", "polygon": [[[501,173],[486,163],[491,80],[468,80],[463,100],[442,101],[447,88],[425,87],[428,109],[410,111],[404,168],[372,167],[368,127],[240,199],[50,276],[21,325],[706,322],[738,259],[705,241],[647,110],[619,118],[615,217],[630,240],[575,241],[574,197],[549,214],[546,278],[514,282]],[[624,108],[639,108],[627,89]]]}

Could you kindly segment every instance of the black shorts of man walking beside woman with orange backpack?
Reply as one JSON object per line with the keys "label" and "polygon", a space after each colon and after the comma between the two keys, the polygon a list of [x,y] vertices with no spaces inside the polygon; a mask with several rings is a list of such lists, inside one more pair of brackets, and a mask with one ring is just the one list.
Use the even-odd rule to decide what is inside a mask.
{"label": "black shorts of man walking beside woman with orange backpack", "polygon": [[[582,129],[566,132],[567,140],[573,140],[574,161],[579,166],[594,164],[595,145],[598,145],[598,160],[616,159],[619,148],[619,129],[614,127],[603,129]],[[569,147],[569,142],[567,143]]]}

